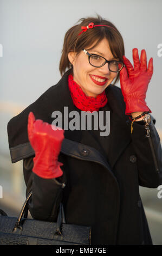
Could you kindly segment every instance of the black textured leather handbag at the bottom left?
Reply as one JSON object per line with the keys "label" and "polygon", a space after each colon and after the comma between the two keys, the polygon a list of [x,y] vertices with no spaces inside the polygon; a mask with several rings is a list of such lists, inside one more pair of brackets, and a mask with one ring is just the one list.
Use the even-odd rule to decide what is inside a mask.
{"label": "black textured leather handbag at the bottom left", "polygon": [[29,219],[29,193],[18,218],[0,210],[0,245],[90,245],[91,227],[67,224],[60,203],[57,222]]}

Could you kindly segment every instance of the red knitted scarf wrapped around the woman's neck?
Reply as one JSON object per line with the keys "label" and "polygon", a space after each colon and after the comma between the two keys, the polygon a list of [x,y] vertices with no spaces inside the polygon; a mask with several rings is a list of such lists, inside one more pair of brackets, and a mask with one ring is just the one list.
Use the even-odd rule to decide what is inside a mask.
{"label": "red knitted scarf wrapped around the woman's neck", "polygon": [[74,105],[82,111],[98,111],[107,103],[105,90],[96,97],[86,96],[82,88],[73,80],[73,76],[68,76],[68,86]]}

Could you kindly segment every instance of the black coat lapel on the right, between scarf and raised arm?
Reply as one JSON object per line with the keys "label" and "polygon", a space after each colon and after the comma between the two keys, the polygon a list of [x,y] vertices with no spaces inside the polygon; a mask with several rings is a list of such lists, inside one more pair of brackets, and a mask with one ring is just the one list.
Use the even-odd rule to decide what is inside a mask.
{"label": "black coat lapel on the right, between scarf and raised arm", "polygon": [[131,141],[131,132],[127,125],[125,103],[120,88],[112,84],[106,88],[107,99],[111,108],[110,143],[108,161],[111,167]]}

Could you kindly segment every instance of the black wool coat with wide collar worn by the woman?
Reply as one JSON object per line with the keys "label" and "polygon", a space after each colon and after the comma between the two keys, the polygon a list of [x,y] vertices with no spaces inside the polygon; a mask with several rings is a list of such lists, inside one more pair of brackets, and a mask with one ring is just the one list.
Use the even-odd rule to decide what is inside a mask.
{"label": "black wool coat with wide collar worn by the woman", "polygon": [[152,116],[151,137],[146,137],[141,122],[134,122],[131,134],[119,87],[106,88],[111,109],[108,157],[96,146],[90,131],[85,138],[81,130],[65,130],[59,155],[63,175],[43,179],[32,172],[35,153],[28,140],[28,114],[32,111],[36,119],[51,124],[53,111],[63,114],[64,106],[69,112],[77,111],[68,74],[8,123],[11,160],[23,159],[27,194],[33,191],[30,213],[38,220],[56,221],[62,201],[67,223],[92,227],[92,245],[151,245],[139,185],[156,188],[162,184],[160,138]]}

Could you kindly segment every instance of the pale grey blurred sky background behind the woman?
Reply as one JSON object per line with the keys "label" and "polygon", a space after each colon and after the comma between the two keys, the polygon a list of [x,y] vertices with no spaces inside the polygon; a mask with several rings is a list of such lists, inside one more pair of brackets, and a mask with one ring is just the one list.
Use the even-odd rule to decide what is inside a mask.
{"label": "pale grey blurred sky background behind the woman", "polygon": [[[156,119],[155,127],[160,137],[162,135],[162,56],[158,56],[158,45],[162,44],[161,0],[0,0],[0,56],[3,46],[0,57],[0,185],[5,195],[3,202],[8,199],[11,204],[14,199],[10,195],[15,195],[17,200],[25,189],[22,163],[16,165],[10,161],[7,123],[60,80],[64,34],[82,17],[96,14],[119,29],[125,42],[125,56],[131,62],[134,47],[139,49],[139,54],[144,48],[147,60],[153,57],[154,72],[146,102]],[[120,87],[120,83],[116,85]],[[149,191],[150,198],[157,200],[157,192]],[[151,200],[152,207],[154,201]],[[161,202],[158,199],[159,205]],[[155,231],[156,241],[158,234]],[[161,240],[159,242],[162,244]]]}

